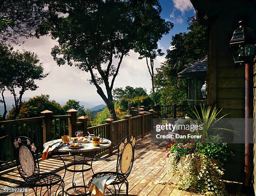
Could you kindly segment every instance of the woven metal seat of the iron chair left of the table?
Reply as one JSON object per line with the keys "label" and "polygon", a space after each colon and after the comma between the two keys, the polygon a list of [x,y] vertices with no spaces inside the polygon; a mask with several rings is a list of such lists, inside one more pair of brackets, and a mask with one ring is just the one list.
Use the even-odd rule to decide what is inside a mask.
{"label": "woven metal seat of the iron chair left of the table", "polygon": [[30,178],[28,184],[32,186],[52,186],[61,181],[61,176],[56,173],[40,173]]}

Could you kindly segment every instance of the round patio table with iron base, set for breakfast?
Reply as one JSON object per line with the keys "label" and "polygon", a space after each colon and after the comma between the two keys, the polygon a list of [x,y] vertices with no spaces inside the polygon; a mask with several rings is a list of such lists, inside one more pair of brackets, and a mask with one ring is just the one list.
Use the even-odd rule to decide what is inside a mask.
{"label": "round patio table with iron base, set for breakfast", "polygon": [[[106,139],[104,139],[104,140],[106,140]],[[57,142],[60,142],[60,141],[61,141],[61,139],[52,140],[52,141],[46,142],[46,143],[44,143],[44,148],[48,148],[49,145],[53,145],[54,143],[57,143]],[[67,190],[65,191],[65,193],[67,195],[69,195],[69,196],[73,195],[72,193],[69,193],[70,190],[73,190],[72,192],[77,193],[77,195],[79,195],[79,196],[87,195],[86,188],[89,188],[89,187],[86,186],[85,182],[84,182],[84,171],[90,171],[92,169],[92,161],[93,161],[93,158],[95,157],[97,151],[101,150],[101,149],[104,149],[104,148],[110,147],[111,141],[108,140],[108,143],[100,144],[99,146],[93,146],[92,145],[92,141],[90,141],[90,143],[79,143],[79,144],[82,145],[81,148],[71,149],[71,148],[68,148],[66,144],[64,144],[64,146],[62,146],[60,148],[56,148],[56,149],[53,150],[53,152],[57,153],[57,155],[62,160],[62,162],[64,163],[64,166],[65,166],[65,172],[64,172],[64,176],[62,177],[62,179],[64,179],[64,177],[66,175],[66,171],[73,172],[72,187],[67,188]],[[87,152],[92,152],[92,151],[95,152],[95,153],[94,153],[94,155],[92,157],[91,163],[86,163],[84,161],[85,157],[86,157],[86,153]],[[74,162],[66,164],[64,162],[63,158],[59,155],[59,153],[69,153],[69,154],[72,154],[73,157],[74,157]],[[82,162],[81,161],[77,161],[76,157],[75,157],[75,154],[79,155],[79,154],[82,154],[82,153],[84,153],[84,158],[83,158]],[[70,167],[73,166],[73,165],[74,165],[74,169],[71,169]],[[82,169],[76,169],[76,165],[82,165]],[[86,165],[87,168],[84,168],[84,165]],[[74,175],[75,175],[76,172],[82,172],[84,186],[76,186],[76,183],[74,182]],[[77,190],[78,188],[79,189],[80,188],[84,188],[84,192],[80,191],[80,190]]]}

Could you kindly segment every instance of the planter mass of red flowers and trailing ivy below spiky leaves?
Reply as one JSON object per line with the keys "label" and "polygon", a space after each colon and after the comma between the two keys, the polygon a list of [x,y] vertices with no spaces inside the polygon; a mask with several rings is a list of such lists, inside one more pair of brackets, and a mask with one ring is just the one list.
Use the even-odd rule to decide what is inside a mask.
{"label": "planter mass of red flowers and trailing ivy below spiky leaves", "polygon": [[169,143],[166,150],[169,172],[177,174],[180,189],[209,196],[225,196],[222,165],[230,155],[226,143]]}

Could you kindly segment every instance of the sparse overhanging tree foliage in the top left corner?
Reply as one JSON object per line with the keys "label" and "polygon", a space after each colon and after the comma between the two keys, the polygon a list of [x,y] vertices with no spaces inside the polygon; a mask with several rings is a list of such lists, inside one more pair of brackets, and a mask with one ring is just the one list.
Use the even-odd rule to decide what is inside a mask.
{"label": "sparse overhanging tree foliage in the top left corner", "polygon": [[[34,35],[41,23],[42,0],[1,0],[0,41],[18,43]],[[23,38],[23,40],[21,40]]]}

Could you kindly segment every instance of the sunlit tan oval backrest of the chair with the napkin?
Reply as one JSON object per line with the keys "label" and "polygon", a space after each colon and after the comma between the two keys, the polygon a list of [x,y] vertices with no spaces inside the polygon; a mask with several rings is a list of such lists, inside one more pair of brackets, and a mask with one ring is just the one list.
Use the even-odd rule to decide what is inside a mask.
{"label": "sunlit tan oval backrest of the chair with the napkin", "polygon": [[135,144],[136,137],[133,135],[127,135],[118,144],[116,172],[121,173],[125,179],[129,176],[133,168]]}

